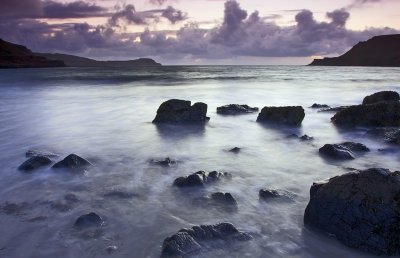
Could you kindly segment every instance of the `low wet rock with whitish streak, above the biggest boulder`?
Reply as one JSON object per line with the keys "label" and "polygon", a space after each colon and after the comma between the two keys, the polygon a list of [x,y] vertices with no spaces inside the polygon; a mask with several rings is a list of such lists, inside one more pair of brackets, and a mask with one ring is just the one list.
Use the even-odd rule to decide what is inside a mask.
{"label": "low wet rock with whitish streak, above the biggest boulder", "polygon": [[319,154],[336,160],[354,159],[354,152],[368,152],[369,149],[362,143],[343,142],[340,144],[325,144],[319,149]]}

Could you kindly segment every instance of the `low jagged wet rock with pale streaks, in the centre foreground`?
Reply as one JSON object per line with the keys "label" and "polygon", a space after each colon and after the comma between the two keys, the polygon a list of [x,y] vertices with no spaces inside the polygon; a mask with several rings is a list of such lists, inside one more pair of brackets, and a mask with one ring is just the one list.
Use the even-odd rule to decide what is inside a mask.
{"label": "low jagged wet rock with pale streaks, in the centre foreground", "polygon": [[178,177],[174,181],[177,187],[205,186],[206,184],[232,178],[230,173],[212,171],[210,173],[198,171],[189,176]]}

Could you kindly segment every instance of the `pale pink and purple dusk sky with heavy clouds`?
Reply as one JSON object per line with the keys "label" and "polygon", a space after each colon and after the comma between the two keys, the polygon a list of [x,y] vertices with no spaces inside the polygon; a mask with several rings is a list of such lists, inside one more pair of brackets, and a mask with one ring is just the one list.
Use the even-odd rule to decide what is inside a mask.
{"label": "pale pink and purple dusk sky with heavy clouds", "polygon": [[400,0],[1,0],[35,52],[162,64],[307,64],[400,31]]}

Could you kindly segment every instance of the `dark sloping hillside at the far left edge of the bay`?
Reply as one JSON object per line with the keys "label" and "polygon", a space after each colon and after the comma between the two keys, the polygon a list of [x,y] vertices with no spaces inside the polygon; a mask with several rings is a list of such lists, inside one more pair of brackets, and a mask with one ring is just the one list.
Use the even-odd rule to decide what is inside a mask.
{"label": "dark sloping hillside at the far left edge of the bay", "polygon": [[0,68],[62,67],[64,62],[37,56],[28,48],[0,39]]}

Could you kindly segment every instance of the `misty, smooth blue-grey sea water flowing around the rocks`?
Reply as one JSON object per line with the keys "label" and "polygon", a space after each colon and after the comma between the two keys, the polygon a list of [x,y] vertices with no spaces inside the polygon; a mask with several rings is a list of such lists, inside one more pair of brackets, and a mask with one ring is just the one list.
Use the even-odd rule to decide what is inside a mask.
{"label": "misty, smooth blue-grey sea water flowing around the rocks", "polygon": [[[346,168],[398,170],[400,148],[342,130],[307,108],[361,103],[380,90],[400,91],[399,68],[304,66],[171,66],[137,69],[56,68],[0,70],[0,257],[159,257],[164,238],[181,228],[231,222],[250,242],[201,257],[369,257],[335,238],[304,227],[313,182]],[[171,98],[208,104],[204,127],[157,127],[158,106]],[[221,116],[225,104],[301,105],[299,128],[267,127],[257,114]],[[302,142],[287,136],[313,136]],[[346,162],[322,159],[325,143],[356,141],[371,152]],[[227,150],[240,147],[239,154]],[[378,149],[390,148],[390,152]],[[50,167],[17,167],[30,149],[64,157],[76,153],[94,164],[83,174]],[[163,168],[149,160],[171,157]],[[175,178],[226,171],[230,181],[180,191]],[[291,193],[291,201],[260,202],[261,188]],[[112,198],[110,191],[132,193]],[[237,212],[193,205],[193,199],[230,192]],[[74,194],[78,201],[67,201]],[[73,227],[94,211],[106,223],[96,231]],[[117,246],[108,253],[106,247]],[[371,256],[372,257],[372,256]]]}

